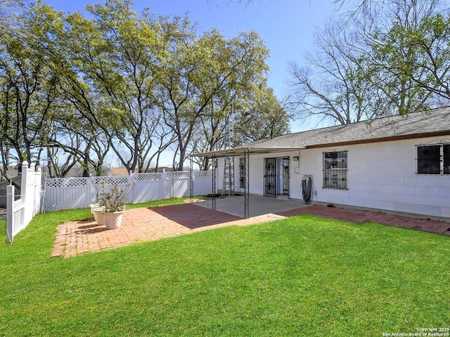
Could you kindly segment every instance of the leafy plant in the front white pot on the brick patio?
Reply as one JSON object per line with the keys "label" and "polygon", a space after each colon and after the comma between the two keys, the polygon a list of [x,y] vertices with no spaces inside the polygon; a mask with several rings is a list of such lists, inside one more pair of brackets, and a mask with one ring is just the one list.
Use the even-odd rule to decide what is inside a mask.
{"label": "leafy plant in the front white pot on the brick patio", "polygon": [[120,227],[127,199],[128,193],[123,188],[120,188],[117,183],[113,183],[108,192],[104,192],[104,190],[101,192],[100,206],[102,215],[100,218],[104,220],[106,228],[109,230]]}

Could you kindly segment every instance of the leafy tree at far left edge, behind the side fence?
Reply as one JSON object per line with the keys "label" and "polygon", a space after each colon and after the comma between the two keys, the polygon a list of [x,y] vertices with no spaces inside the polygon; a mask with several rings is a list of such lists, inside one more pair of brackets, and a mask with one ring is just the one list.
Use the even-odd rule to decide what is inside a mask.
{"label": "leafy tree at far left edge, behind the side fence", "polygon": [[[46,142],[58,100],[57,77],[47,52],[55,19],[32,6],[20,25],[0,34],[0,132],[19,164]],[[43,20],[45,18],[45,20]]]}

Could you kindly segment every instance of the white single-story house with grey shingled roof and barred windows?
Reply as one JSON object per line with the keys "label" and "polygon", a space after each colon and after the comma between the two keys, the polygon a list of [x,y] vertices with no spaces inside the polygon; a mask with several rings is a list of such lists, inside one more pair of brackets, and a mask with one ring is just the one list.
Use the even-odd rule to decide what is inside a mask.
{"label": "white single-story house with grey shingled roof and barred windows", "polygon": [[450,107],[192,156],[217,161],[213,194],[224,188],[450,218]]}

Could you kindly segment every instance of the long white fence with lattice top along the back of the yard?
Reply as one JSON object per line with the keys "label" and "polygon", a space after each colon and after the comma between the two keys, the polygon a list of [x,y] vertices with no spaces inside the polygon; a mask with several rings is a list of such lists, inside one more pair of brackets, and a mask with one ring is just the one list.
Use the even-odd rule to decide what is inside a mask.
{"label": "long white fence with lattice top along the back of the yard", "polygon": [[[193,195],[210,194],[210,171],[193,171]],[[120,177],[49,178],[44,190],[44,211],[89,207],[99,194],[116,183],[127,190],[129,203],[189,197],[191,192],[189,171],[162,173],[135,173]]]}

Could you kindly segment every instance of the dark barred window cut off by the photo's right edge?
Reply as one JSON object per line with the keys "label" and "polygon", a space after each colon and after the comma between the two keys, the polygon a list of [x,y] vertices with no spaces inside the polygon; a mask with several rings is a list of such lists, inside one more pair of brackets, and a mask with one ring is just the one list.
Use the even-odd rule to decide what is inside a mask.
{"label": "dark barred window cut off by the photo's right edge", "polygon": [[450,144],[417,145],[417,174],[450,174]]}

